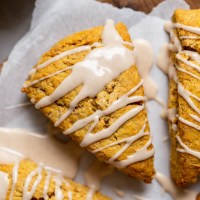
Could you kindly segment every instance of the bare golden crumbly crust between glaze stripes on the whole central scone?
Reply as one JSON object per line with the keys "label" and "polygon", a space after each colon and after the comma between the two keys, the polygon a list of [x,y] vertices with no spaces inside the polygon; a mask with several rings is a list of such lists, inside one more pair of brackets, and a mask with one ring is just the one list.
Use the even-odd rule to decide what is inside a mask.
{"label": "bare golden crumbly crust between glaze stripes on the whole central scone", "polygon": [[[116,29],[124,41],[128,42],[131,41],[127,28],[124,24],[118,23],[116,25]],[[99,26],[79,33],[75,33],[71,36],[64,38],[63,40],[58,42],[55,46],[53,46],[50,49],[50,51],[45,53],[40,58],[38,64],[47,61],[48,59],[56,56],[57,54],[63,51],[70,50],[83,45],[91,45],[94,42],[101,42],[102,31],[103,31],[103,26]],[[67,66],[73,66],[75,63],[83,60],[89,52],[90,51],[83,51],[80,53],[67,56],[63,59],[60,59],[48,65],[43,69],[39,69],[35,74],[33,74],[28,78],[26,83],[30,83],[33,80],[40,79],[53,72],[66,68]],[[25,92],[30,99],[34,99],[35,102],[38,102],[44,96],[50,95],[55,90],[55,88],[69,74],[70,71],[60,73],[59,75],[46,79],[31,87],[22,88],[22,91]],[[98,93],[94,98],[86,98],[85,100],[81,101],[75,108],[73,113],[67,119],[64,120],[64,122],[59,126],[59,128],[64,131],[69,127],[71,127],[77,120],[93,114],[96,110],[106,109],[115,100],[117,100],[123,94],[127,93],[129,90],[135,87],[140,81],[141,78],[138,74],[137,67],[135,65],[131,66],[127,71],[120,74],[115,80],[108,83],[105,86],[105,88],[100,93]],[[46,115],[53,123],[55,123],[59,119],[59,117],[61,117],[69,108],[70,102],[78,94],[81,87],[82,86],[77,87],[75,90],[71,91],[70,93],[68,93],[55,103],[51,104],[50,106],[42,108],[41,109],[42,113],[44,113],[44,115]],[[144,95],[143,87],[140,87],[132,95],[143,96]],[[122,116],[130,109],[138,106],[139,104],[141,104],[141,102],[129,104],[126,107],[119,109],[110,115],[101,117],[100,122],[94,128],[93,132],[95,133],[109,127],[120,116]],[[143,110],[137,116],[130,119],[123,126],[121,126],[112,136],[90,145],[87,149],[89,151],[93,151],[110,143],[121,140],[123,138],[135,135],[142,128],[146,120],[147,120],[147,112],[146,110]],[[76,142],[80,143],[83,140],[84,135],[86,134],[90,125],[91,124],[71,134],[71,137]],[[145,131],[147,132],[150,131],[148,122]],[[143,147],[148,140],[149,140],[148,135],[138,139],[136,142],[130,145],[130,147],[117,160],[123,160],[128,155],[133,154],[138,149]],[[100,160],[107,161],[109,158],[115,155],[115,153],[118,152],[123,145],[124,144],[111,146],[100,152],[95,153],[95,155]],[[152,145],[149,147],[149,149],[151,148],[153,148]],[[125,172],[126,174],[132,177],[136,177],[138,179],[144,180],[145,182],[149,183],[151,182],[152,177],[154,175],[153,157],[141,162],[131,164],[128,167],[121,169],[121,171]]]}

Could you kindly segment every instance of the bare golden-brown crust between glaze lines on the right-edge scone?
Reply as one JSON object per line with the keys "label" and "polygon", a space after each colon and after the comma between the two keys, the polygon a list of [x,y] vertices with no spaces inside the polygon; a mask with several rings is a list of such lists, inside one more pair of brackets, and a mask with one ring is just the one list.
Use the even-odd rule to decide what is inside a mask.
{"label": "bare golden-brown crust between glaze lines on the right-edge scone", "polygon": [[[176,10],[173,16],[173,21],[175,23],[181,23],[188,26],[197,26],[200,27],[200,10]],[[194,35],[190,32],[184,31],[182,29],[175,30],[180,36]],[[199,52],[200,50],[200,40],[196,39],[180,39],[183,50],[192,50]],[[191,61],[188,56],[181,54],[184,58]],[[200,73],[192,69],[191,67],[185,65],[183,62],[175,58],[175,54],[171,53],[173,63],[188,72],[193,73],[196,76],[200,77]],[[194,62],[194,61],[192,61]],[[198,64],[197,62],[194,62]],[[200,67],[200,66],[199,66]],[[192,77],[191,75],[176,70],[179,83],[190,91],[192,94],[200,97],[200,80]],[[197,121],[189,116],[189,114],[200,115],[195,112],[178,94],[177,84],[170,80],[170,90],[169,90],[169,108],[177,109],[177,114],[179,117],[182,117],[194,124],[200,125]],[[200,109],[200,102],[191,97],[191,100],[194,104]],[[189,183],[197,182],[198,176],[200,175],[200,160],[190,154],[181,153],[177,151],[177,148],[182,148],[179,142],[176,139],[178,135],[184,144],[189,148],[200,152],[200,131],[182,123],[181,121],[175,119],[173,124],[177,125],[177,131],[172,128],[172,123],[169,122],[169,130],[171,136],[171,174],[173,180],[178,185],[186,185]]]}

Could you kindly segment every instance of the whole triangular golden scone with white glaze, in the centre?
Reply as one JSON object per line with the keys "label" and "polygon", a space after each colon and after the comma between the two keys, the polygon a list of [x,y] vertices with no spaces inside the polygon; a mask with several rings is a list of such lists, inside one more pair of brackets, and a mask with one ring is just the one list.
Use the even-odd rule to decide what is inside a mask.
{"label": "whole triangular golden scone with white glaze, in the centre", "polygon": [[[102,38],[104,38],[103,41]],[[110,42],[112,40],[113,43]],[[103,42],[107,45],[103,45]],[[25,82],[22,91],[28,95],[31,102],[36,104],[37,108],[41,106],[41,99],[45,98],[42,104],[47,103],[49,105],[40,107],[40,109],[56,125],[58,125],[58,122],[60,123],[66,112],[70,112],[70,115],[65,117],[64,121],[58,125],[64,133],[71,133],[70,136],[76,142],[82,147],[87,147],[100,160],[114,165],[132,177],[149,183],[154,175],[154,150],[145,109],[143,81],[134,64],[132,44],[129,42],[131,40],[126,26],[122,23],[114,26],[111,20],[108,20],[104,27],[95,27],[66,37],[41,57],[38,65],[32,70]],[[92,47],[89,46],[86,50],[86,45],[92,45]],[[113,51],[113,49],[116,47],[119,51],[122,51],[123,55],[115,55],[118,50]],[[81,51],[79,51],[80,48]],[[66,52],[67,54],[71,52],[69,50],[72,50],[73,54],[66,55]],[[97,52],[93,53],[96,50]],[[50,64],[46,62],[57,55],[62,55],[62,52],[65,52],[63,58],[53,60]],[[108,61],[110,53],[114,54],[114,59],[111,62]],[[96,55],[97,57],[103,56],[107,60],[102,61],[102,58],[96,58]],[[103,65],[107,67],[98,71],[100,76],[101,72],[105,73],[102,79],[98,77],[98,73],[95,72],[96,69],[94,72],[88,72],[86,69],[86,71],[76,74],[77,69],[73,68],[74,65],[76,64],[75,66],[78,65],[79,67],[80,61],[83,61],[84,64],[81,64],[87,68],[87,64],[90,65],[91,57],[92,62],[95,60],[94,69],[96,65],[97,69]],[[130,61],[128,65],[127,61]],[[98,66],[99,62],[100,66]],[[107,62],[110,62],[110,64],[107,64]],[[42,63],[46,63],[44,64],[45,67]],[[127,65],[126,69],[124,68],[125,65]],[[65,70],[67,66],[72,66],[73,75],[78,76],[77,78],[73,79],[71,69]],[[112,69],[109,69],[109,67]],[[63,69],[64,72],[47,78],[50,74]],[[87,76],[87,73],[93,74]],[[113,76],[113,74],[115,75]],[[111,76],[113,78],[110,80]],[[46,79],[42,80],[44,77]],[[72,77],[73,81],[69,81],[69,77]],[[37,82],[39,79],[40,81]],[[64,80],[68,83],[62,88],[62,92],[68,85],[70,85],[69,87],[74,87],[73,84],[78,85],[77,82],[80,82],[80,79],[89,82],[89,85],[84,88],[84,84],[81,84],[70,92],[65,92],[65,95],[56,101],[54,101],[54,98],[51,102],[46,99],[46,96],[51,95]],[[35,80],[37,83],[34,82]],[[71,106],[70,111],[70,104],[80,94],[82,88],[86,90],[82,93],[83,96],[85,92],[90,93],[91,91],[93,93],[94,90],[99,89],[99,85],[102,86],[102,82],[105,82],[105,80],[108,82],[95,96],[87,96],[76,106]],[[59,91],[57,92],[59,96]],[[88,120],[88,122],[86,123],[84,120]],[[85,125],[83,125],[84,123]],[[96,123],[95,126],[91,127],[94,123]],[[91,133],[89,133],[90,131]],[[95,133],[97,134],[95,135]],[[94,135],[95,137],[93,137]]]}

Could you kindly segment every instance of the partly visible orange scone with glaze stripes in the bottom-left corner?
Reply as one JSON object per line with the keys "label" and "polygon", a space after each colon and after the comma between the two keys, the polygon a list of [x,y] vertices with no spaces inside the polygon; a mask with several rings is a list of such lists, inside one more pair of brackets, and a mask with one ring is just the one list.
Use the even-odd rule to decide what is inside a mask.
{"label": "partly visible orange scone with glaze stripes in the bottom-left corner", "polygon": [[[90,193],[90,189],[75,183],[74,181],[64,178],[55,172],[49,171],[43,166],[30,161],[21,160],[18,170],[15,164],[0,164],[0,173],[7,175],[9,187],[6,194],[6,199],[21,200],[21,199],[86,199]],[[14,172],[17,177],[14,183]],[[35,173],[33,175],[33,173]],[[32,177],[31,177],[32,174]],[[39,179],[39,181],[37,180]],[[1,180],[1,189],[3,191],[3,180]],[[13,184],[15,186],[13,187]],[[3,187],[3,188],[2,188]],[[46,189],[45,189],[46,188]],[[32,194],[31,194],[32,193]],[[2,194],[1,194],[2,195]],[[2,197],[2,196],[1,196]],[[46,197],[46,198],[45,198]],[[62,198],[61,198],[62,197]],[[91,200],[106,200],[110,199],[99,192],[95,192]]]}

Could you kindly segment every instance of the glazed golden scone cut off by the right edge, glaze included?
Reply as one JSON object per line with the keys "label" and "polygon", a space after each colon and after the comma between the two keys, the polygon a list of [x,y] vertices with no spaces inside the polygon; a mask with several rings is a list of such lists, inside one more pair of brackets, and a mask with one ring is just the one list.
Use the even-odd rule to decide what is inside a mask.
{"label": "glazed golden scone cut off by the right edge, glaze included", "polygon": [[[171,35],[169,126],[171,174],[178,185],[200,175],[200,10],[176,10]],[[195,27],[195,28],[194,28]]]}

